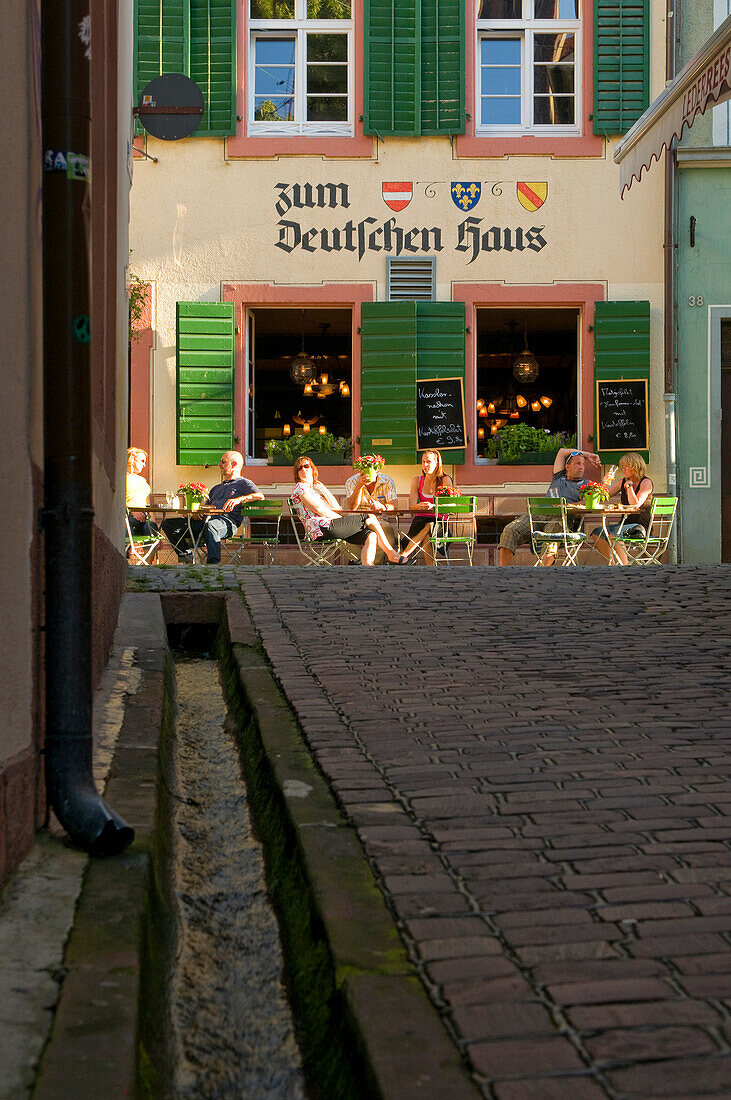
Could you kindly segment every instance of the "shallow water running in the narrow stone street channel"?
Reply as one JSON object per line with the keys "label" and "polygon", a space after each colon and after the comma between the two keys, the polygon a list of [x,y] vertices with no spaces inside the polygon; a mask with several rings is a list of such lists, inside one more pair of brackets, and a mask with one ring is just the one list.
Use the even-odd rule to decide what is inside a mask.
{"label": "shallow water running in the narrow stone street channel", "polygon": [[279,933],[217,662],[179,659],[176,697],[175,1096],[298,1100],[304,1085]]}

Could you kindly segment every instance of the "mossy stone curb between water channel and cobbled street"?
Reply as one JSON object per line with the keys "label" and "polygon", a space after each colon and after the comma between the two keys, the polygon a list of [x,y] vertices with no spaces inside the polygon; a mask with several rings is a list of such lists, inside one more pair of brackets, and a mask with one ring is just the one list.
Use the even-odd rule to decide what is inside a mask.
{"label": "mossy stone curb between water channel and cobbled street", "polygon": [[301,856],[334,986],[369,1070],[366,1094],[384,1100],[479,1096],[409,963],[355,831],[317,770],[259,651],[241,597],[229,595],[225,603],[232,656],[253,718],[248,735],[254,727],[265,763],[257,783],[275,788],[267,806],[277,807]]}

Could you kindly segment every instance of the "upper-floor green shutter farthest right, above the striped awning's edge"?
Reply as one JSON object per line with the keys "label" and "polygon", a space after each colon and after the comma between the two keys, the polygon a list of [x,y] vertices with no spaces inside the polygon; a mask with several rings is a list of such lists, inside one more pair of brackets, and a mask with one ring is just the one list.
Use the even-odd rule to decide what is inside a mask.
{"label": "upper-floor green shutter farthest right, above the striped awning's edge", "polygon": [[650,102],[649,23],[649,0],[595,0],[595,134],[624,133]]}

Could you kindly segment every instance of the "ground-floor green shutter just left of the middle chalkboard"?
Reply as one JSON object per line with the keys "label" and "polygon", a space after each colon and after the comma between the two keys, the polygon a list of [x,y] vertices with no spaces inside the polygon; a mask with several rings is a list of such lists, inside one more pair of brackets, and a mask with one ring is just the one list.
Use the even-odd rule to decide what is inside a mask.
{"label": "ground-floor green shutter just left of the middle chalkboard", "polygon": [[391,465],[417,461],[417,305],[361,307],[361,453]]}

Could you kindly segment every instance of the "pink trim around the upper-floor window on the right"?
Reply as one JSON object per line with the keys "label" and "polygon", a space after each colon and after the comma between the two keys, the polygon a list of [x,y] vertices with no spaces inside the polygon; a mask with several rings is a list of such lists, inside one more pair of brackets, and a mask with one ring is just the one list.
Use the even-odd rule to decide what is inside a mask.
{"label": "pink trim around the upper-floor window on the right", "polygon": [[520,138],[477,136],[475,118],[475,80],[477,58],[475,57],[475,0],[467,0],[467,133],[456,139],[457,156],[602,156],[603,138],[591,133],[594,107],[594,57],[592,57],[592,10],[591,0],[582,0],[582,110],[583,133],[576,136],[550,134],[525,134]]}

